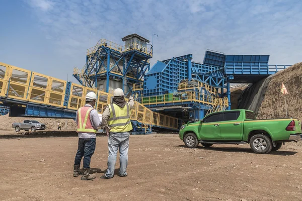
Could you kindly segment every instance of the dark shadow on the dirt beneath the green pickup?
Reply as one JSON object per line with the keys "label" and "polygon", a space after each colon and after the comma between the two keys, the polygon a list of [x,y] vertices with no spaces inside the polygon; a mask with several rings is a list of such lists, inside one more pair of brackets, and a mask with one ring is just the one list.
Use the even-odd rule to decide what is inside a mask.
{"label": "dark shadow on the dirt beneath the green pickup", "polygon": [[[178,145],[177,147],[187,148],[185,145]],[[190,149],[190,148],[188,148],[188,149]],[[209,148],[205,148],[205,147],[198,146],[196,149],[204,149],[204,150],[211,150],[211,151],[222,151],[222,152],[245,152],[245,153],[256,154],[255,152],[253,152],[252,149],[246,148],[246,147],[209,147]],[[290,156],[290,155],[294,155],[296,153],[298,153],[298,152],[296,152],[296,151],[271,151],[268,154],[270,154],[270,155],[280,155],[280,156]]]}

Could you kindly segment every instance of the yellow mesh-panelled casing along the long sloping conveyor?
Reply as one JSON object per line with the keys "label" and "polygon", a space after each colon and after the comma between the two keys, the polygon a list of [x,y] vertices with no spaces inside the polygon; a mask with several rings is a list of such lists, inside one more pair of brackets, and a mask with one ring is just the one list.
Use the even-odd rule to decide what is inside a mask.
{"label": "yellow mesh-panelled casing along the long sloping conveyor", "polygon": [[[85,95],[93,91],[98,98],[95,108],[100,114],[112,103],[113,95],[110,93],[75,83],[71,83],[70,90],[65,91],[66,84],[64,80],[0,62],[2,98],[14,98],[25,104],[35,103],[76,111],[85,105]],[[64,104],[66,92],[69,98],[67,104]],[[132,108],[131,120],[141,123],[144,129],[153,126],[178,129],[177,118],[152,112],[137,102]]]}

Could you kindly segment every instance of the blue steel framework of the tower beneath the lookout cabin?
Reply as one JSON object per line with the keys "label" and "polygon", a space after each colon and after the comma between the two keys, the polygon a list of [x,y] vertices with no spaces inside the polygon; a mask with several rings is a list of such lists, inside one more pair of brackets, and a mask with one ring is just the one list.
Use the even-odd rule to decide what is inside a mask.
{"label": "blue steel framework of the tower beneath the lookout cabin", "polygon": [[[89,78],[88,84],[83,82],[79,74],[73,74],[82,85],[97,87],[98,81],[106,80],[105,92],[109,92],[109,80],[118,79],[122,82],[122,89],[130,92],[133,83],[142,82],[141,78],[150,66],[148,59],[152,58],[152,52],[135,48],[123,51],[122,46],[108,46],[107,42],[97,46],[96,51],[88,52],[86,56],[82,76]],[[112,60],[113,65],[110,64]]]}

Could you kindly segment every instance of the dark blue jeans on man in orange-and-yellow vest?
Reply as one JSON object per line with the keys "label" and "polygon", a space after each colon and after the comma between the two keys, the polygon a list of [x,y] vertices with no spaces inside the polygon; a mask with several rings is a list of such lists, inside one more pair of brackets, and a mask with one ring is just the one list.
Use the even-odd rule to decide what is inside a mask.
{"label": "dark blue jeans on man in orange-and-yellow vest", "polygon": [[82,157],[83,168],[90,168],[91,157],[96,149],[96,139],[95,138],[79,138],[78,152],[75,154],[74,165],[81,165]]}

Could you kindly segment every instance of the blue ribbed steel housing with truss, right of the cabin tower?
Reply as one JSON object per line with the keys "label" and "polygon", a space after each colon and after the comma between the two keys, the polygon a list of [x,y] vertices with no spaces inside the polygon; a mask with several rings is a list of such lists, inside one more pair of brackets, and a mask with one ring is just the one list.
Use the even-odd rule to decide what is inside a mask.
{"label": "blue ribbed steel housing with truss, right of the cabin tower", "polygon": [[178,83],[181,80],[191,78],[217,88],[226,88],[223,67],[192,62],[192,58],[193,55],[188,54],[157,61],[144,76],[143,95],[162,95],[177,91]]}

